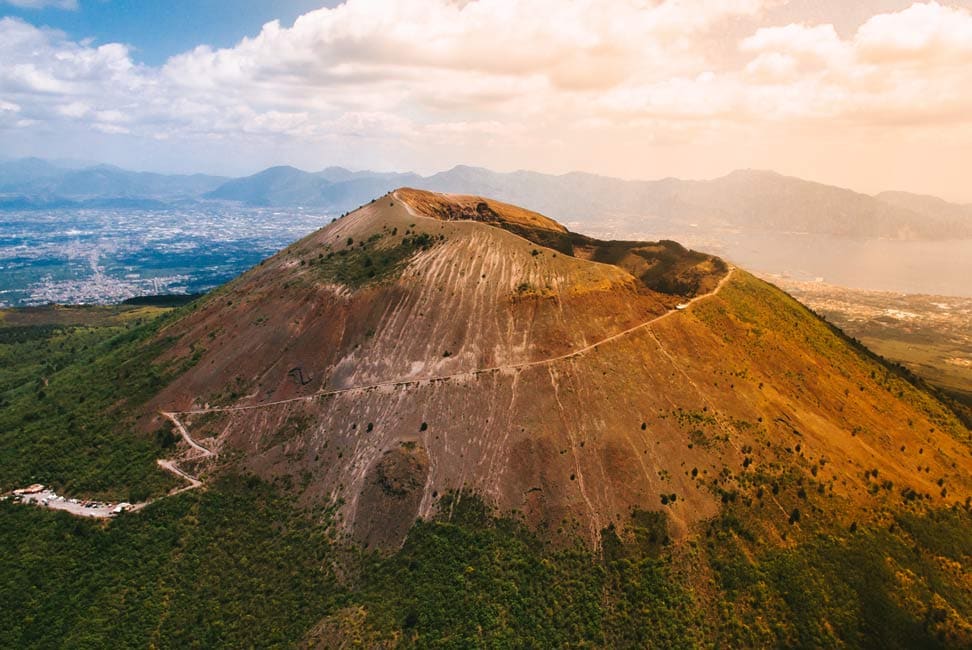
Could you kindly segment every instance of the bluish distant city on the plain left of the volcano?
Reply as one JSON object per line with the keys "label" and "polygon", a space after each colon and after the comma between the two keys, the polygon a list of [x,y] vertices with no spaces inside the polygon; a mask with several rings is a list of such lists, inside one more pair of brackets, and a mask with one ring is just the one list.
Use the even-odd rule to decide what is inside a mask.
{"label": "bluish distant city on the plain left of the volcano", "polygon": [[0,307],[205,292],[330,217],[298,208],[55,209],[0,220]]}

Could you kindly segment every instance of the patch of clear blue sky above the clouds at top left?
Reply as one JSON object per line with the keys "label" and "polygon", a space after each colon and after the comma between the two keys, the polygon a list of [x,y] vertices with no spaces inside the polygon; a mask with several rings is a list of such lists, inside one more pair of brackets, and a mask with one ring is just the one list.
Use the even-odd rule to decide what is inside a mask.
{"label": "patch of clear blue sky above the clouds at top left", "polygon": [[[159,65],[174,54],[200,44],[230,47],[252,36],[271,20],[286,26],[312,9],[339,0],[19,0],[24,7],[0,0],[0,16],[16,16],[37,26],[52,27],[73,40],[96,44],[126,43],[132,58]],[[35,4],[46,6],[32,8]]]}

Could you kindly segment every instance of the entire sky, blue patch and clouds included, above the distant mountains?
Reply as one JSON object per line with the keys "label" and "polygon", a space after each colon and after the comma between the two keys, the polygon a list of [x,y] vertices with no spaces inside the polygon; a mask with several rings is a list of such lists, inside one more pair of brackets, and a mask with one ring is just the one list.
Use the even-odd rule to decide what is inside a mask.
{"label": "entire sky, blue patch and clouds included, above the distant mountains", "polygon": [[972,0],[322,4],[0,0],[0,155],[750,167],[972,202]]}

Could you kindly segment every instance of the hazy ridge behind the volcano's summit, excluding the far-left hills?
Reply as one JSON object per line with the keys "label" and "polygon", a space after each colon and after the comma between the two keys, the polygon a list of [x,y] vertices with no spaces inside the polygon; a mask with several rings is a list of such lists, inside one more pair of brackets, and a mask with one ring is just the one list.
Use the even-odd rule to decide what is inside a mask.
{"label": "hazy ridge behind the volcano's summit, excluding the far-left hills", "polygon": [[[276,169],[276,168],[275,168]],[[270,170],[268,170],[270,171]],[[230,181],[211,198],[253,205],[305,205],[335,212],[396,186],[495,196],[557,215],[579,227],[619,221],[637,231],[668,228],[803,232],[856,238],[951,239],[972,236],[972,210],[937,200],[934,208],[886,193],[875,196],[774,172],[744,170],[707,181],[626,181],[584,173],[510,173],[460,165],[428,177],[330,168],[287,168]]]}

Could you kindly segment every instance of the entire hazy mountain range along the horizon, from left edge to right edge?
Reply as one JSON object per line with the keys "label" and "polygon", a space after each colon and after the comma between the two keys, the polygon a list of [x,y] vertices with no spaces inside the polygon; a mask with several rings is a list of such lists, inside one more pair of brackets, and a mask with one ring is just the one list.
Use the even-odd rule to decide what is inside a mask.
{"label": "entire hazy mountain range along the horizon, from left edge to right edge", "polygon": [[78,168],[37,158],[0,162],[0,209],[117,207],[156,209],[186,201],[320,209],[340,214],[391,189],[411,186],[478,194],[523,205],[585,228],[605,223],[637,231],[650,224],[741,232],[801,232],[854,238],[972,237],[972,206],[931,196],[876,196],[783,176],[742,170],[706,181],[627,181],[585,173],[498,173],[457,166],[414,173],[306,172],[271,167],[243,178],[132,172],[108,165]]}

